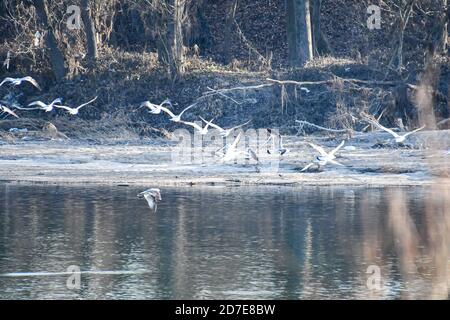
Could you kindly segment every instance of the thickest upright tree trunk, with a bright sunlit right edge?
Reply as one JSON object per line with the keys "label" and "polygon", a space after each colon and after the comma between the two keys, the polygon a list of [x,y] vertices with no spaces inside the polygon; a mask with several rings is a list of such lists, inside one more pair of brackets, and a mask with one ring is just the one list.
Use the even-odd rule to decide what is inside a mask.
{"label": "thickest upright tree trunk, with a bright sunlit right edge", "polygon": [[313,58],[309,0],[286,0],[289,62],[303,67]]}

